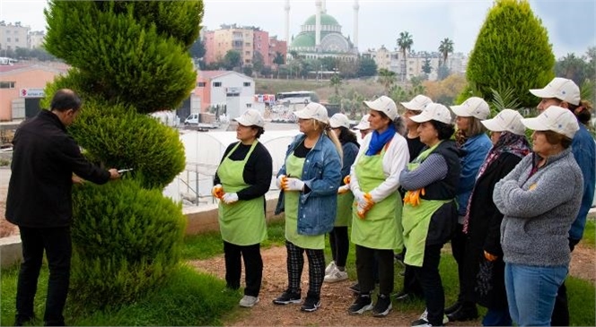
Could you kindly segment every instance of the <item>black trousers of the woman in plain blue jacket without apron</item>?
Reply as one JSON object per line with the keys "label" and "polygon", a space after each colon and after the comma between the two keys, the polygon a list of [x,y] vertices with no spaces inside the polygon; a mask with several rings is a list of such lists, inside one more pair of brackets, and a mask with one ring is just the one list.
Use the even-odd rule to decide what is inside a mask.
{"label": "black trousers of the woman in plain blue jacket without apron", "polygon": [[466,244],[468,235],[463,233],[463,225],[458,224],[453,238],[451,238],[451,253],[458,264],[458,280],[460,282],[460,293],[458,302],[462,305],[474,305],[474,279],[469,278],[466,273]]}

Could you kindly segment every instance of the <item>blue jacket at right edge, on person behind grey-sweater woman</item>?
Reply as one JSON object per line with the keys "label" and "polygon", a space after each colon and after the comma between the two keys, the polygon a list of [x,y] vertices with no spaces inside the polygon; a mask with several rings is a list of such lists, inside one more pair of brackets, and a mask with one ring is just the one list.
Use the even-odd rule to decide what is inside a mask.
{"label": "blue jacket at right edge, on person behind grey-sweater woman", "polygon": [[592,134],[583,124],[580,124],[580,130],[575,133],[574,140],[571,142],[571,151],[574,153],[575,161],[583,175],[580,212],[569,230],[569,238],[579,241],[583,237],[585,218],[594,200],[594,179],[596,178],[596,144],[594,144]]}

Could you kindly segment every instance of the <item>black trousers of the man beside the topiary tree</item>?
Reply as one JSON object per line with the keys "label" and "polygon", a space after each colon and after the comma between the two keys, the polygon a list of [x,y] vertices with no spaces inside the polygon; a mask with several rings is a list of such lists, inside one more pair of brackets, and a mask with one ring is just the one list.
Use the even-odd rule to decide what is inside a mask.
{"label": "black trousers of the man beside the topiary tree", "polygon": [[19,230],[23,261],[16,288],[15,320],[24,322],[34,316],[33,300],[37,292],[39,271],[45,250],[48,258],[49,280],[46,313],[43,320],[46,325],[64,325],[62,313],[68,295],[70,258],[73,252],[70,227],[25,228],[20,226]]}

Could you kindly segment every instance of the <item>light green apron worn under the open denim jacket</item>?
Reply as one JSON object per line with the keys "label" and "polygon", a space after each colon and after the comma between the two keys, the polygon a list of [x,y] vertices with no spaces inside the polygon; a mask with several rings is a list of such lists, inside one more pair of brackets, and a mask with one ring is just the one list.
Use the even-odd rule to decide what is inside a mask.
{"label": "light green apron worn under the open denim jacket", "polygon": [[[302,178],[302,167],[305,158],[294,156],[294,152],[285,159],[285,175]],[[284,191],[285,204],[285,239],[303,249],[323,250],[325,248],[325,234],[298,234],[298,204],[301,192]]]}

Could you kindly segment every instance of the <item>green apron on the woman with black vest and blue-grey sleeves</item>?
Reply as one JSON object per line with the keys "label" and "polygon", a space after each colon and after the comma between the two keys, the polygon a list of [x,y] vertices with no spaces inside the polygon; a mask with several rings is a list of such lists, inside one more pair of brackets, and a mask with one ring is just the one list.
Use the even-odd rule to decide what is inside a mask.
{"label": "green apron on the woman with black vest and blue-grey sleeves", "polygon": [[[408,163],[410,171],[416,170],[420,163],[431,154],[434,149],[440,144],[436,143],[432,148],[422,151],[418,157]],[[437,211],[444,203],[451,200],[425,200],[420,199],[420,204],[412,206],[409,203],[404,204],[404,214],[402,217],[402,224],[404,228],[404,245],[406,257],[404,262],[410,266],[422,267],[425,259],[426,237],[428,236],[428,228],[431,223],[434,211]]]}

